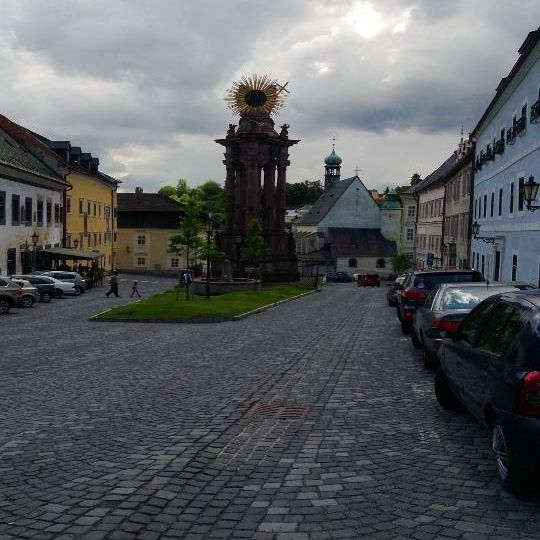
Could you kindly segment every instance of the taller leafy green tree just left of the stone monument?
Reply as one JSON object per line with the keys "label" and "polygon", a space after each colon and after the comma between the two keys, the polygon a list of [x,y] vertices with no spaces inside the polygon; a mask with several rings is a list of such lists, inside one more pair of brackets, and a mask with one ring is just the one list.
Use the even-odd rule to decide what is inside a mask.
{"label": "taller leafy green tree just left of the stone monument", "polygon": [[202,245],[203,223],[201,220],[201,201],[197,196],[184,193],[180,197],[184,205],[184,214],[180,220],[178,232],[170,237],[167,246],[168,253],[186,255],[186,266],[190,268]]}

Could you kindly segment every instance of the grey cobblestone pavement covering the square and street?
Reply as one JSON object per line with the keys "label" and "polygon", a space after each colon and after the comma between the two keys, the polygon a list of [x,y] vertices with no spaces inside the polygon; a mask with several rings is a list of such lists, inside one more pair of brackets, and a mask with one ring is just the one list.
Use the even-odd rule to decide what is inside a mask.
{"label": "grey cobblestone pavement covering the square and street", "polygon": [[102,293],[0,319],[2,540],[540,538],[383,288],[199,325],[88,322]]}

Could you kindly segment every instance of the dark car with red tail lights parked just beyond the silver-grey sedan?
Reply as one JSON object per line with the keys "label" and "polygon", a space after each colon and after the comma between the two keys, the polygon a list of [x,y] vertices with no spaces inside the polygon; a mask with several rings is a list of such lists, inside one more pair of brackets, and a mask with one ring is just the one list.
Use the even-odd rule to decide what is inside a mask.
{"label": "dark car with red tail lights parked just beyond the silver-grey sedan", "polygon": [[411,331],[412,319],[430,291],[439,283],[479,283],[486,281],[478,270],[417,270],[407,276],[401,294],[397,295],[396,312],[401,322],[401,330]]}

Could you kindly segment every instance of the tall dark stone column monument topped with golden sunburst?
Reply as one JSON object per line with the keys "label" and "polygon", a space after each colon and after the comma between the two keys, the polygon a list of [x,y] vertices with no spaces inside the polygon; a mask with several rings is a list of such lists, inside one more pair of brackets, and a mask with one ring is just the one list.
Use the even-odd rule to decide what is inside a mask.
{"label": "tall dark stone column monument topped with golden sunburst", "polygon": [[285,183],[289,147],[300,142],[289,139],[289,125],[274,128],[271,114],[283,105],[286,85],[266,75],[243,77],[228,91],[229,108],[240,116],[238,127],[229,124],[225,147],[226,224],[220,233],[220,248],[233,263],[236,275],[245,274],[240,247],[248,223],[257,218],[269,246],[268,260],[260,265],[266,281],[298,278],[294,240],[285,230]]}

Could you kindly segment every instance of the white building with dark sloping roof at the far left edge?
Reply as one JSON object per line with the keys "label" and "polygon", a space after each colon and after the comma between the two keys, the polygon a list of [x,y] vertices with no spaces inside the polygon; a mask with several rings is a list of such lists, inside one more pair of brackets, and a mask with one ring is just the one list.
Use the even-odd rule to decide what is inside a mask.
{"label": "white building with dark sloping roof at the far left edge", "polygon": [[34,250],[62,241],[67,184],[19,142],[30,136],[0,115],[0,275],[35,269]]}

